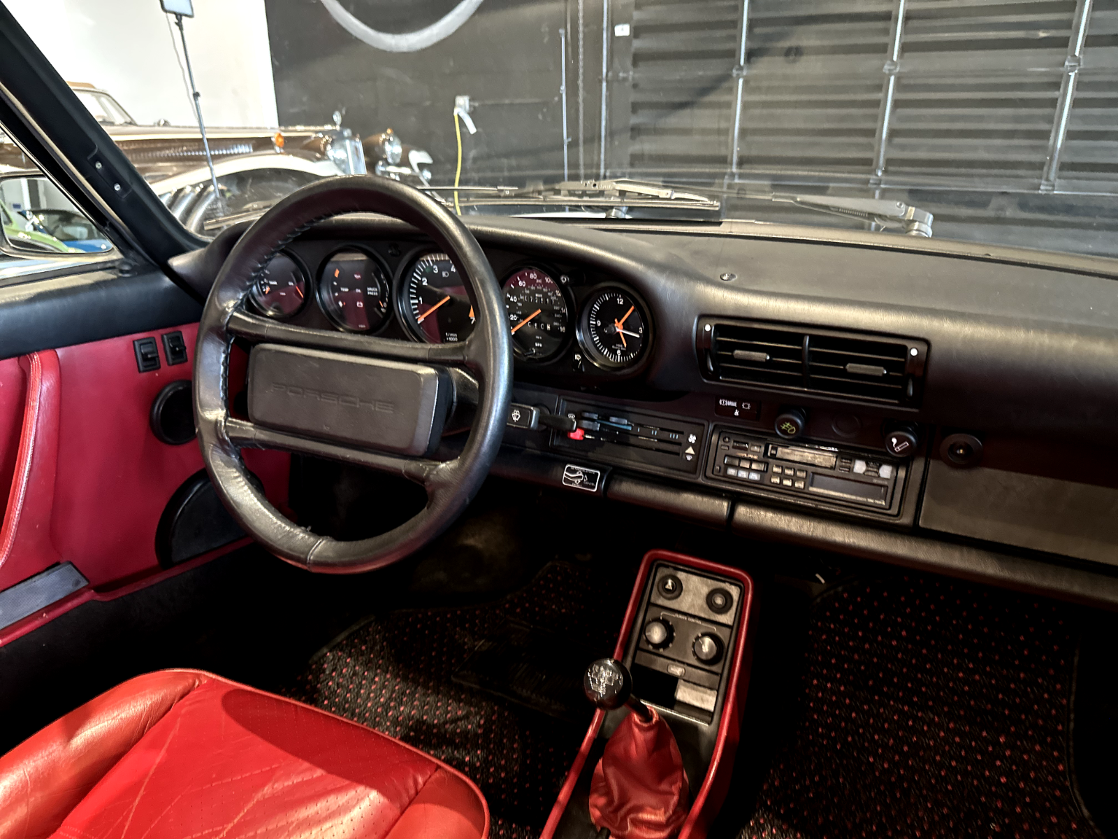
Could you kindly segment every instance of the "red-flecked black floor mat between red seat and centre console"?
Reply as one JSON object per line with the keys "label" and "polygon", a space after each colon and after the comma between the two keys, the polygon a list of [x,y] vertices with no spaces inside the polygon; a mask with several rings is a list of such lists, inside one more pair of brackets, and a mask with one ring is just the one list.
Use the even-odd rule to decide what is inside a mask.
{"label": "red-flecked black floor mat between red seat and centre console", "polygon": [[453,681],[479,644],[510,623],[612,654],[628,590],[589,567],[552,563],[483,606],[402,610],[348,632],[312,660],[291,696],[399,737],[472,777],[493,837],[539,836],[593,715],[562,722]]}

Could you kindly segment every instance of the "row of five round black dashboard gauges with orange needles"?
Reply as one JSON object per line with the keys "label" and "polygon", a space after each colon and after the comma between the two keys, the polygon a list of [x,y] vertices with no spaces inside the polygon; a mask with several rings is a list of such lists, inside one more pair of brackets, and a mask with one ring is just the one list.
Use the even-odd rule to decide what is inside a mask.
{"label": "row of five round black dashboard gauges with orange needles", "polygon": [[[295,253],[276,254],[250,289],[248,305],[278,320],[303,320],[309,305],[316,305],[335,329],[372,334],[395,322],[428,343],[464,341],[473,332],[476,313],[465,279],[445,253],[413,253],[395,271],[373,248],[360,246],[332,251],[320,262],[311,271]],[[629,289],[536,261],[512,264],[499,276],[518,360],[569,359],[576,370],[589,362],[620,371],[647,355],[647,309]]]}

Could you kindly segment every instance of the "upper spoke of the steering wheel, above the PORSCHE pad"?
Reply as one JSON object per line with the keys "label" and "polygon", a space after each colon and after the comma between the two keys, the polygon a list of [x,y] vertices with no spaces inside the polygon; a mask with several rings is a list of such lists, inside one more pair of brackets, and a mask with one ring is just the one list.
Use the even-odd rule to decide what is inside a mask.
{"label": "upper spoke of the steering wheel, above the PORSCHE pad", "polygon": [[390,338],[307,329],[262,318],[240,309],[234,310],[226,323],[229,334],[258,343],[283,343],[288,347],[341,352],[394,361],[473,367],[477,351],[470,339],[461,343],[416,343]]}

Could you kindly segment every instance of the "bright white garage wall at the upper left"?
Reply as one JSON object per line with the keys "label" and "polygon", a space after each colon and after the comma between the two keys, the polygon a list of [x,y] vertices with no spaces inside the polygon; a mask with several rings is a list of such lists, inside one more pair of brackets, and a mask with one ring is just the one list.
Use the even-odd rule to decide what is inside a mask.
{"label": "bright white garage wall at the upper left", "polygon": [[[2,2],[67,81],[105,88],[140,124],[195,124],[179,30],[159,0]],[[195,0],[183,26],[206,123],[276,125],[264,0]]]}

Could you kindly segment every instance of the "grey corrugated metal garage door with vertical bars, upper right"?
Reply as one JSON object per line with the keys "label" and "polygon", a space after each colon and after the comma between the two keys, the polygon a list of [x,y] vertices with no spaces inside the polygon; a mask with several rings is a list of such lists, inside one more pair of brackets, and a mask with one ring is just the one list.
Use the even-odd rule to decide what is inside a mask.
{"label": "grey corrugated metal garage door with vertical bars, upper right", "polygon": [[1118,195],[1118,0],[633,0],[613,20],[627,11],[612,172]]}

